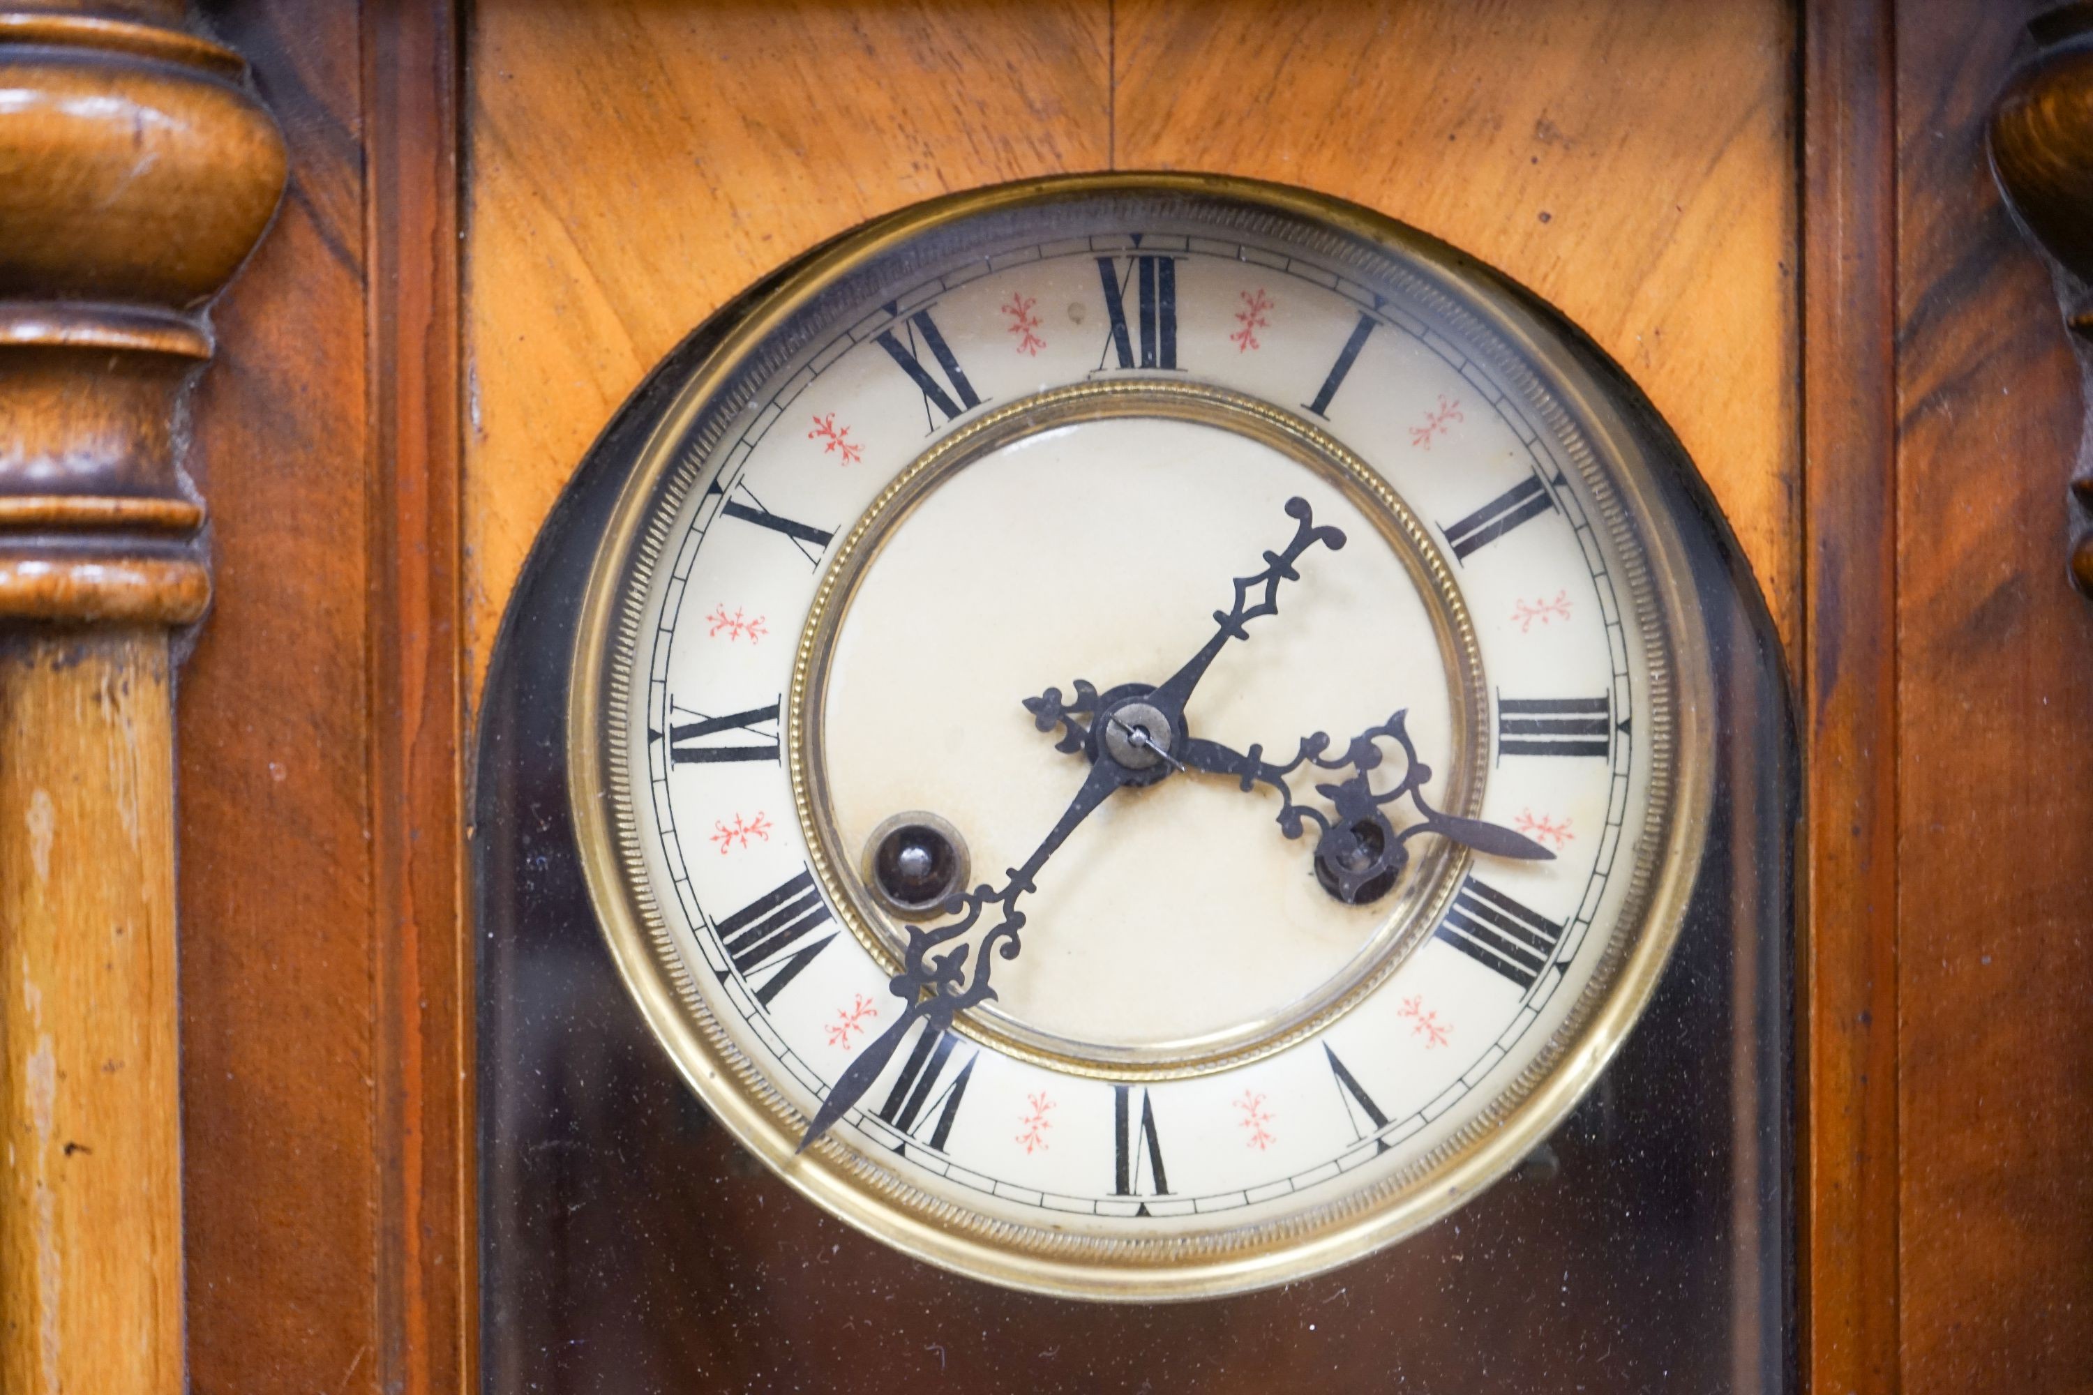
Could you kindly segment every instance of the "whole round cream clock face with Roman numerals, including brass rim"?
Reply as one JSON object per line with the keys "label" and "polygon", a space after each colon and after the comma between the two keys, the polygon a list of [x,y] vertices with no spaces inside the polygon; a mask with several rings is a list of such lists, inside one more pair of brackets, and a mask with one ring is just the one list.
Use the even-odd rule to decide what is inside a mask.
{"label": "whole round cream clock face with Roman numerals, including brass rim", "polygon": [[1340,1263],[1545,1136],[1674,933],[1704,661],[1536,324],[1356,209],[1124,178],[747,314],[573,701],[613,950],[743,1142],[1124,1299]]}

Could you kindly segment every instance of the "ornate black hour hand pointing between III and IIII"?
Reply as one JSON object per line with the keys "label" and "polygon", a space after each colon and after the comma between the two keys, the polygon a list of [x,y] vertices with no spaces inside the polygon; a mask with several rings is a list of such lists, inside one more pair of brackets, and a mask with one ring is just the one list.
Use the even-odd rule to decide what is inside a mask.
{"label": "ornate black hour hand pointing between III and IIII", "polygon": [[[1381,726],[1367,728],[1333,761],[1323,759],[1323,751],[1329,749],[1329,736],[1323,732],[1304,736],[1293,759],[1285,765],[1266,761],[1264,747],[1231,751],[1220,742],[1199,738],[1187,740],[1176,755],[1193,770],[1233,776],[1245,791],[1256,784],[1268,784],[1279,791],[1279,830],[1289,839],[1302,837],[1306,822],[1312,820],[1321,830],[1314,847],[1316,881],[1346,906],[1363,906],[1388,895],[1409,864],[1404,845],[1419,832],[1436,832],[1442,839],[1494,857],[1555,857],[1540,843],[1503,824],[1434,809],[1423,793],[1423,786],[1432,780],[1432,768],[1417,759],[1417,747],[1411,742],[1404,717],[1406,713],[1398,711]],[[1394,740],[1402,749],[1404,768],[1394,788],[1375,793],[1373,770],[1383,763],[1379,747],[1383,738]],[[1329,799],[1335,807],[1331,816],[1293,799],[1287,776],[1304,765],[1310,770],[1352,772],[1344,780],[1314,786],[1314,793]],[[1398,832],[1394,822],[1381,811],[1381,805],[1404,797],[1409,797],[1421,822]]]}

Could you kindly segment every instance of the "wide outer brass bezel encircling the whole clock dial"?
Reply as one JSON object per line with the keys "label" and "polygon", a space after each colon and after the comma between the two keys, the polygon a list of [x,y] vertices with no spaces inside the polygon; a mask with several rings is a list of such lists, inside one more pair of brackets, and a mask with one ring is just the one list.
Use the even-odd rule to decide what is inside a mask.
{"label": "wide outer brass bezel encircling the whole clock dial", "polygon": [[[1471,343],[1494,353],[1501,379],[1526,393],[1597,504],[1605,542],[1628,592],[1649,667],[1649,818],[1605,962],[1503,1098],[1417,1165],[1365,1192],[1281,1221],[1118,1242],[1013,1226],[919,1192],[835,1136],[795,1154],[804,1117],[793,1111],[710,1021],[680,954],[638,876],[630,786],[617,780],[628,734],[632,596],[643,596],[643,544],[659,546],[655,498],[678,464],[676,443],[712,397],[816,295],[913,238],[1017,207],[1053,209],[1080,199],[1174,199],[1245,220],[1287,220],[1323,234],[1329,255],[1377,259],[1388,280],[1442,318],[1469,322]],[[1543,374],[1547,391],[1540,389]],[[569,797],[590,899],[628,991],[670,1058],[714,1115],[787,1184],[833,1215],[923,1261],[1030,1293],[1099,1299],[1193,1299],[1273,1286],[1319,1274],[1440,1219],[1507,1173],[1576,1106],[1649,1002],[1679,937],[1702,860],[1712,795],[1712,665],[1691,565],[1666,525],[1658,496],[1656,441],[1647,408],[1624,379],[1559,316],[1459,251],[1379,213],[1308,190],[1201,174],[1090,174],[1028,180],[950,195],[904,209],[812,253],[783,278],[684,379],[640,450],[590,567],[567,696]],[[1605,460],[1605,464],[1601,464]],[[638,586],[634,573],[638,571]],[[1664,759],[1668,755],[1668,759]]]}

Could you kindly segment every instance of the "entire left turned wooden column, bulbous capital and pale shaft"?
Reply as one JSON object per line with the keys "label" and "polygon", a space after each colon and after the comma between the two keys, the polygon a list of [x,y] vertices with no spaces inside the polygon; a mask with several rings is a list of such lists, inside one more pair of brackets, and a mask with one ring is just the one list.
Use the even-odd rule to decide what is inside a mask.
{"label": "entire left turned wooden column, bulbous capital and pale shaft", "polygon": [[174,661],[203,307],[285,148],[180,4],[0,0],[0,1391],[182,1368]]}

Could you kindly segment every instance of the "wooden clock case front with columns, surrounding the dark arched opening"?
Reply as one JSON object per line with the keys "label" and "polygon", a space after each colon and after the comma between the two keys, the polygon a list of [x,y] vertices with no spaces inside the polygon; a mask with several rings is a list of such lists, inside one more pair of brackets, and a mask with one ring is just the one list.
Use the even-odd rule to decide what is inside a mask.
{"label": "wooden clock case front with columns, surrounding the dark arched opening", "polygon": [[[1802,1380],[2080,1389],[2093,615],[2060,558],[2083,399],[1988,144],[2016,84],[1999,174],[2074,253],[2085,25],[2030,33],[2041,8],[8,8],[0,65],[38,100],[0,115],[0,489],[90,500],[10,504],[8,577],[86,538],[209,563],[213,594],[190,627],[193,581],[130,611],[6,592],[4,1100],[40,1159],[0,1205],[8,1389],[477,1389],[469,751],[532,538],[647,368],[743,287],[915,199],[1099,167],[1413,222],[1561,305],[1676,427],[1798,688]],[[88,199],[134,128],[44,98],[130,100],[140,75],[268,115],[184,125],[197,176],[144,203]],[[149,343],[65,328],[140,314]],[[33,395],[52,372],[71,397]],[[123,468],[38,473],[61,458]],[[155,655],[180,653],[176,694]],[[67,688],[84,657],[132,673],[134,707]],[[107,837],[119,807],[174,837]],[[144,958],[111,958],[115,924]],[[140,1023],[159,1050],[94,1035]],[[38,1031],[80,1052],[54,1096]],[[159,1186],[134,1211],[138,1177]],[[1273,1382],[1321,1341],[1304,1316],[1231,1374]]]}

